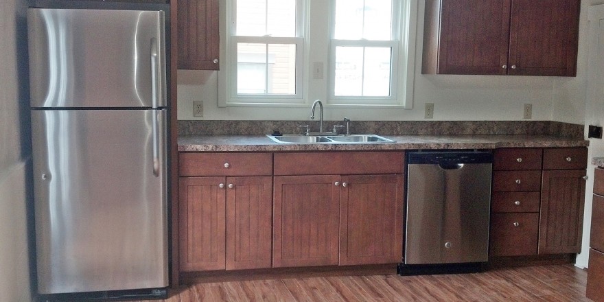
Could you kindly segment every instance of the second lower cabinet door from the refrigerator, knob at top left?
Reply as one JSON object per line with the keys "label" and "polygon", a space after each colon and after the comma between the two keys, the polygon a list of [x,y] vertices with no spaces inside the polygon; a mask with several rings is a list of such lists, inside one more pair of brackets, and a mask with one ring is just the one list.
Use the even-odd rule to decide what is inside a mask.
{"label": "second lower cabinet door from the refrigerator, knob at top left", "polygon": [[270,268],[272,177],[229,177],[227,183],[227,270]]}

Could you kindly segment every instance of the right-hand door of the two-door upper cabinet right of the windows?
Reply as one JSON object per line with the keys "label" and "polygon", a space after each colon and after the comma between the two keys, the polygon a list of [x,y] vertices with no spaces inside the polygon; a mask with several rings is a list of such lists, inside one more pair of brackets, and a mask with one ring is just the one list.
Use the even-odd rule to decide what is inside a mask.
{"label": "right-hand door of the two-door upper cabinet right of the windows", "polygon": [[512,0],[509,74],[577,74],[580,0]]}

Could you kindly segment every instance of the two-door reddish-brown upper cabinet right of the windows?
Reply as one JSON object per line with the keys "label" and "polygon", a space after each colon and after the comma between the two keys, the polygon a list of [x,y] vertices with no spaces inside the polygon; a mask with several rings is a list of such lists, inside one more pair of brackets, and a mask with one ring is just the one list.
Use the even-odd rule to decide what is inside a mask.
{"label": "two-door reddish-brown upper cabinet right of the windows", "polygon": [[577,73],[579,0],[426,0],[422,73]]}

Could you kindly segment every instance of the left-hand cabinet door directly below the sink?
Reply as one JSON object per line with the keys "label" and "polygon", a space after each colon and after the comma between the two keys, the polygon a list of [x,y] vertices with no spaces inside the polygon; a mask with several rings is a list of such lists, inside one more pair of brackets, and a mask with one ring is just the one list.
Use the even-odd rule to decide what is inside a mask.
{"label": "left-hand cabinet door directly below the sink", "polygon": [[340,176],[275,176],[273,267],[338,264]]}

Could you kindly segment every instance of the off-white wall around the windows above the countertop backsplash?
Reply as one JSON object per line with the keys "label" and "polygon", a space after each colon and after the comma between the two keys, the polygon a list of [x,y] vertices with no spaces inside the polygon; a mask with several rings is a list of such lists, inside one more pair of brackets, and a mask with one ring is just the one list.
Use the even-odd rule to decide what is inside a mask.
{"label": "off-white wall around the windows above the countertop backsplash", "polygon": [[[586,64],[583,11],[596,0],[583,0],[582,3],[577,78],[422,75],[423,1],[419,2],[413,109],[326,108],[325,119],[338,120],[347,116],[353,120],[422,120],[425,104],[434,103],[434,120],[522,120],[524,104],[531,103],[533,120],[583,124]],[[178,119],[308,119],[310,105],[303,108],[219,108],[218,72],[178,71]],[[314,100],[313,97],[310,99],[310,102]],[[192,116],[194,100],[204,102],[204,117]]]}

